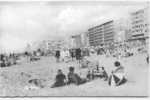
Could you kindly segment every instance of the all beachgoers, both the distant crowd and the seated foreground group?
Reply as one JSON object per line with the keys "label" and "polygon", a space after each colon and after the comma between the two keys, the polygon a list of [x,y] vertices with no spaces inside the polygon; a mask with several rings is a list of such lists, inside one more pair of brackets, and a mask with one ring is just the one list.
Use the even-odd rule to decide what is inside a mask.
{"label": "all beachgoers, both the distant crowd and the seated foreground group", "polygon": [[[148,50],[145,45],[129,45],[129,44],[118,44],[117,46],[106,46],[106,47],[90,47],[90,48],[75,48],[75,49],[58,49],[55,51],[53,56],[56,58],[56,62],[68,62],[68,61],[77,61],[81,64],[82,67],[87,68],[90,61],[84,59],[85,56],[90,56],[92,54],[96,55],[105,55],[106,57],[130,57],[139,53],[147,53],[146,62],[149,63]],[[30,62],[40,60],[41,56],[44,56],[44,53],[40,50],[34,51],[32,53],[25,52],[21,54],[10,54],[10,55],[0,55],[0,66],[11,66],[17,64],[19,58],[27,57]],[[84,61],[85,60],[85,61]],[[84,63],[85,62],[85,63]],[[95,78],[104,79],[108,82],[108,85],[119,86],[127,81],[125,77],[124,67],[119,62],[114,62],[114,70],[108,75],[108,72],[103,66],[96,65],[91,70],[88,70],[86,78],[81,78],[81,76],[75,73],[75,67],[71,66],[67,76],[63,73],[62,69],[57,71],[55,77],[55,83],[51,86],[59,87],[69,84],[84,84],[86,82],[92,81]]]}

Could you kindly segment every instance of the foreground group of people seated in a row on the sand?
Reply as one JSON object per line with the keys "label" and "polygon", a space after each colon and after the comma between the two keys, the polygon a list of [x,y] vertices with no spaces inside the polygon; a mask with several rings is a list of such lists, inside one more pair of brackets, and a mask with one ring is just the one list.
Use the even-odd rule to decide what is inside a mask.
{"label": "foreground group of people seated in a row on the sand", "polygon": [[127,81],[124,67],[120,64],[119,61],[116,61],[114,62],[114,70],[112,71],[110,76],[108,76],[104,67],[99,66],[96,66],[96,68],[89,70],[87,72],[86,78],[82,78],[80,75],[75,73],[75,68],[72,66],[69,67],[67,77],[61,69],[58,69],[57,75],[55,77],[55,83],[51,86],[51,88],[69,84],[81,85],[97,78],[104,79],[104,81],[107,81],[111,86],[119,86]]}

